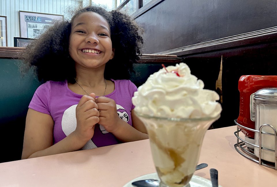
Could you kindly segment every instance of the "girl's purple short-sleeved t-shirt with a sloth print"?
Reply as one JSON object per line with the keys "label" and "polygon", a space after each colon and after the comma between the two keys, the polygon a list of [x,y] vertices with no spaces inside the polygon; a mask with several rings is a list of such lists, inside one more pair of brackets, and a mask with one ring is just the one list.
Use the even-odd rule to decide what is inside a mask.
{"label": "girl's purple short-sleeved t-shirt with a sloth print", "polygon": [[[115,100],[119,117],[132,125],[131,110],[134,108],[132,96],[137,88],[130,80],[111,79],[111,81],[115,83],[115,90],[106,97]],[[75,109],[82,96],[71,91],[67,81],[47,81],[35,91],[29,108],[51,115],[54,120],[54,144],[76,129]],[[83,149],[118,143],[120,143],[119,140],[112,133],[106,131],[101,124],[96,124],[93,137]]]}

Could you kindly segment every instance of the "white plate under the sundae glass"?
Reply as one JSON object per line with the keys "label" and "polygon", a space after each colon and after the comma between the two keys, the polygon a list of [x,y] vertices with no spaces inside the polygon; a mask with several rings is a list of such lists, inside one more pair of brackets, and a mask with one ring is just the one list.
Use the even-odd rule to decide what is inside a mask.
{"label": "white plate under the sundae glass", "polygon": [[[157,173],[150,173],[146,174],[143,176],[140,176],[138,178],[135,178],[134,180],[131,180],[127,184],[125,184],[123,187],[134,187],[132,185],[132,182],[138,181],[138,180],[143,180],[143,179],[159,179]],[[190,180],[190,187],[211,187],[212,182],[208,179],[205,179],[203,177],[199,177],[197,175],[193,175],[191,180]],[[219,185],[219,187],[222,187]]]}

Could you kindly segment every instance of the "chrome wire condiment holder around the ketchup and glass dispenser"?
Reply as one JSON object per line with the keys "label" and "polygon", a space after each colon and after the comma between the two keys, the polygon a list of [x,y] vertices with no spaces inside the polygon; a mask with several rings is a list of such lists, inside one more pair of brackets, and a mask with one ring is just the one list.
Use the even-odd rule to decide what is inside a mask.
{"label": "chrome wire condiment holder around the ketchup and glass dispenser", "polygon": [[[237,120],[235,119],[234,120],[235,124],[237,125],[237,131],[234,132],[235,136],[237,137],[237,143],[234,144],[234,147],[235,147],[235,150],[241,154],[242,156],[246,157],[247,159],[251,160],[251,161],[254,161],[256,163],[259,163],[259,165],[264,165],[266,167],[270,167],[270,168],[273,168],[275,170],[277,170],[277,132],[276,132],[276,129],[272,126],[272,125],[269,125],[269,124],[264,124],[264,125],[261,125],[261,127],[259,128],[259,130],[255,130],[255,129],[250,129],[248,127],[244,127],[243,125],[240,125],[239,123],[237,123]],[[273,129],[274,133],[267,133],[267,132],[263,132],[262,129],[263,127],[270,127]],[[244,139],[242,139],[241,137],[239,137],[239,132],[241,131],[239,129],[239,127],[242,127],[244,129],[247,129],[249,131],[253,131],[253,132],[257,132],[259,133],[259,145],[255,145],[255,144],[252,144]],[[265,134],[267,136],[275,136],[275,150],[272,150],[272,149],[268,149],[268,148],[265,148],[265,147],[262,147],[261,145],[261,135],[262,134]],[[239,142],[239,140],[241,140],[241,142]],[[254,147],[257,147],[259,148],[259,157],[257,157],[255,154],[254,154],[254,149],[251,149],[251,148],[248,148],[245,143],[247,144],[250,144]],[[240,149],[239,149],[240,148]],[[261,159],[261,152],[262,150],[267,150],[267,151],[271,151],[271,152],[275,152],[275,163],[271,163],[271,162],[268,162],[268,161],[263,161]]]}

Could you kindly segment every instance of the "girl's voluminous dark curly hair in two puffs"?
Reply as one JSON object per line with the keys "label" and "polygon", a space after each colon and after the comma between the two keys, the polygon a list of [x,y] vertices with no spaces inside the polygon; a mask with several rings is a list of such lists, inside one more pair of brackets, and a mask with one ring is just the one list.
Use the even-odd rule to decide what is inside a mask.
{"label": "girl's voluminous dark curly hair in two puffs", "polygon": [[20,57],[23,59],[21,71],[27,72],[31,67],[39,81],[64,81],[75,83],[75,62],[69,54],[69,37],[74,18],[84,12],[95,12],[105,18],[111,29],[112,47],[115,55],[106,63],[105,79],[129,79],[133,63],[143,44],[141,30],[130,16],[117,10],[106,11],[99,6],[79,9],[71,21],[58,21],[48,28],[40,37],[27,45]]}

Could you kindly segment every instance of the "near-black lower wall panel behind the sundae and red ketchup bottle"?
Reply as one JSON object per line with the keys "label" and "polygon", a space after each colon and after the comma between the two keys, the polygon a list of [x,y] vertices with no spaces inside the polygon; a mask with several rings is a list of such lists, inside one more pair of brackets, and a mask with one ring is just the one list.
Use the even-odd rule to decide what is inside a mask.
{"label": "near-black lower wall panel behind the sundae and red ketchup bottle", "polygon": [[[277,75],[277,42],[264,42],[212,52],[184,55],[191,73],[202,79],[206,89],[215,90],[222,56],[222,112],[214,128],[234,124],[239,116],[238,81],[242,75]],[[218,90],[215,90],[218,92]]]}

